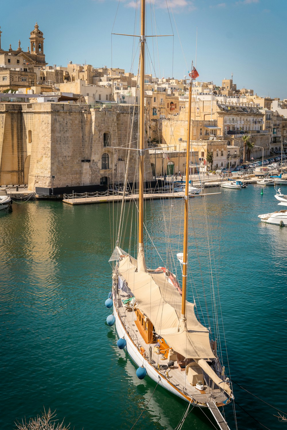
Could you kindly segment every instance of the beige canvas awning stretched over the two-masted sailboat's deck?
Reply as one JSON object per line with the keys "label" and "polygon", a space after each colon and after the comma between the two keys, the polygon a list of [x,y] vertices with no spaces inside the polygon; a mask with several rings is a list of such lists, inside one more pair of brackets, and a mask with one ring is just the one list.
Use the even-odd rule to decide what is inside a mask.
{"label": "beige canvas awning stretched over the two-masted sailboat's deck", "polygon": [[214,358],[209,332],[196,318],[194,304],[187,302],[186,324],[181,325],[181,295],[162,271],[137,272],[129,255],[119,263],[119,274],[136,298],[138,307],[151,320],[155,331],[170,347],[186,358]]}

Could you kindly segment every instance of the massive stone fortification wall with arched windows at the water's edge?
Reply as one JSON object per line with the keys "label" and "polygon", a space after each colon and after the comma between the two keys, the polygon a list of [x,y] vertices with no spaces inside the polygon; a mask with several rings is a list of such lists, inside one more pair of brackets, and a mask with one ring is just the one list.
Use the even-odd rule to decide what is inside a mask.
{"label": "massive stone fortification wall with arched windows at the water's edge", "polygon": [[[102,178],[123,182],[127,151],[119,147],[130,141],[130,110],[130,106],[66,103],[0,104],[0,183],[28,183],[28,190],[34,191],[35,187],[99,185]],[[133,148],[137,134],[136,120]],[[108,154],[105,166],[103,154]],[[151,181],[148,151],[145,156],[145,180]],[[131,182],[136,179],[136,158],[137,151],[131,151]]]}

